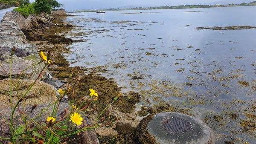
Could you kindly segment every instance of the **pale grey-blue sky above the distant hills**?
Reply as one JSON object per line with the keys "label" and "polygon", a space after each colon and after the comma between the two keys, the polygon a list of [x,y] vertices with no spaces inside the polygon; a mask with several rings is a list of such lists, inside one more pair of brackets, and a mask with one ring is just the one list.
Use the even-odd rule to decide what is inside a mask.
{"label": "pale grey-blue sky above the distant hills", "polygon": [[[30,0],[34,2],[35,0]],[[56,0],[63,3],[66,11],[110,9],[123,6],[179,6],[186,4],[208,4],[208,3],[250,3],[254,0]]]}

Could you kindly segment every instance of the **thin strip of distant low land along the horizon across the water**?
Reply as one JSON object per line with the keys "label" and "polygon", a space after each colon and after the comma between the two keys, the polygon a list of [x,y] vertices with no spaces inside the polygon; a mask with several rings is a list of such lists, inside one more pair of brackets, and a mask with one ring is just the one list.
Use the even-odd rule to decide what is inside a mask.
{"label": "thin strip of distant low land along the horizon across the water", "polygon": [[[180,6],[158,6],[158,7],[135,7],[135,8],[127,8],[127,9],[121,9],[121,8],[111,8],[111,9],[103,9],[105,11],[124,11],[124,10],[150,10],[150,9],[193,9],[193,8],[215,8],[215,7],[229,7],[229,6],[256,6],[256,1],[250,2],[250,3],[241,3],[241,4],[228,4],[228,5],[180,5]],[[96,12],[99,9],[94,10],[77,10],[77,11],[67,11],[68,13],[72,12]]]}

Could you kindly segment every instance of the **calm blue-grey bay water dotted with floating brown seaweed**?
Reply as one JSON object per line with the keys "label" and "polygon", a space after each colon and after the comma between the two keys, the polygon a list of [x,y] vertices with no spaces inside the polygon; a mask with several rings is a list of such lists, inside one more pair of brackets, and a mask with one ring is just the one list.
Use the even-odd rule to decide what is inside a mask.
{"label": "calm blue-grey bay water dotted with floating brown seaweed", "polygon": [[140,106],[203,119],[217,143],[256,141],[255,6],[70,13],[70,66],[99,69]]}

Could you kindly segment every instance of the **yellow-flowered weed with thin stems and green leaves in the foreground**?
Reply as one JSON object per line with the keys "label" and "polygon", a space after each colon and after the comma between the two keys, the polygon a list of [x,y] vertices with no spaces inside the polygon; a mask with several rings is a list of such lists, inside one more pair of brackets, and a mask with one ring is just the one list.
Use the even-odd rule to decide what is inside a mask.
{"label": "yellow-flowered weed with thin stems and green leaves in the foreground", "polygon": [[[11,52],[11,58],[15,53],[15,47],[12,49]],[[52,64],[52,61],[49,59],[50,52],[48,52],[47,56],[44,55],[44,52],[40,53],[41,60],[32,65],[27,67],[26,69],[29,69],[35,65],[38,65],[39,63],[45,62],[44,67],[41,70],[41,73],[38,75],[38,77],[35,79],[35,81],[29,86],[27,91],[23,95],[19,95],[18,93],[18,85],[21,79],[21,76],[26,71],[26,69],[23,70],[20,77],[17,79],[17,82],[12,80],[12,60],[10,62],[10,103],[11,103],[11,118],[5,118],[3,114],[2,117],[5,119],[5,121],[9,124],[10,127],[10,137],[4,138],[0,137],[2,140],[9,141],[8,144],[60,144],[67,142],[67,139],[73,135],[78,135],[80,132],[84,132],[86,130],[95,129],[97,127],[101,126],[111,126],[114,124],[114,122],[117,119],[113,119],[111,121],[105,121],[104,118],[101,117],[102,113],[111,105],[113,102],[115,102],[121,94],[117,95],[113,101],[102,111],[99,112],[99,115],[95,119],[95,121],[87,127],[81,127],[81,124],[83,122],[82,115],[85,114],[85,112],[89,111],[88,108],[90,108],[91,104],[93,102],[97,101],[99,98],[99,95],[94,89],[89,89],[90,96],[87,97],[87,99],[83,99],[83,102],[79,105],[73,104],[73,98],[72,95],[74,93],[74,86],[76,84],[69,84],[65,88],[58,89],[58,100],[54,103],[50,104],[49,107],[53,106],[53,109],[49,109],[47,107],[46,109],[41,109],[41,112],[38,113],[35,117],[31,117],[30,113],[26,113],[25,110],[22,110],[22,105],[20,104],[23,101],[23,107],[26,105],[26,100],[29,98],[32,98],[31,95],[28,95],[29,91],[33,89],[33,86],[35,85],[36,81],[39,80],[39,78],[47,71],[47,66]],[[0,67],[3,69],[3,66],[0,65]],[[3,71],[8,75],[5,69]],[[70,74],[69,80],[72,78],[72,74]],[[75,83],[79,83],[79,79]],[[12,88],[15,88],[15,92],[17,92],[18,101],[14,102],[12,99]],[[59,110],[59,105],[61,104],[61,100],[64,98],[64,96],[68,96],[69,104],[68,107],[61,111],[61,115],[57,115],[57,111]],[[37,104],[32,106],[31,112],[33,109],[37,107]],[[20,118],[22,118],[22,124],[16,126],[15,125],[15,110],[17,109]],[[47,118],[43,118],[42,114],[45,111],[51,111],[51,115],[49,115]]]}

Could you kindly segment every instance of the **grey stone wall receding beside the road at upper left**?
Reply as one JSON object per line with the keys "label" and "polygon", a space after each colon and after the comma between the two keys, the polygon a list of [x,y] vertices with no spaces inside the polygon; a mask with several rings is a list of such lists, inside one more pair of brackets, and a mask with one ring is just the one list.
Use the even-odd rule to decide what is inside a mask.
{"label": "grey stone wall receding beside the road at upper left", "polygon": [[[31,18],[32,19],[32,18]],[[19,23],[22,23],[21,25]],[[20,75],[21,72],[32,63],[38,63],[40,56],[38,55],[35,44],[29,44],[26,36],[21,31],[20,26],[24,29],[31,29],[31,20],[25,19],[19,12],[7,12],[0,23],[0,64],[6,68],[8,72],[10,60],[17,66],[22,66],[20,69],[13,69],[12,75]],[[10,58],[13,47],[15,54]],[[44,67],[44,63],[39,64],[27,71],[24,77],[27,79],[36,79],[40,69]],[[6,78],[7,75],[0,70],[0,78]],[[42,78],[46,78],[44,75]]]}

